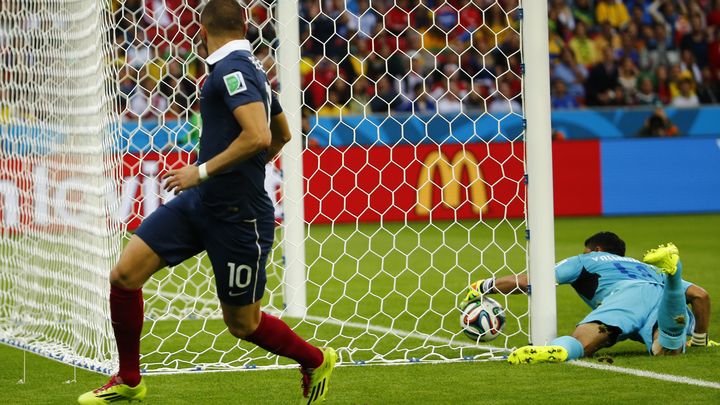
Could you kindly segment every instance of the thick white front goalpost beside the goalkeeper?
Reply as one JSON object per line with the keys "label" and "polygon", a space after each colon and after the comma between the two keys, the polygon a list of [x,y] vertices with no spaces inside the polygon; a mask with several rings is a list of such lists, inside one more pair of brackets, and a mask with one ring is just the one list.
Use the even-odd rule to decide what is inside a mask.
{"label": "thick white front goalpost beside the goalkeeper", "polygon": [[523,1],[523,59],[526,167],[528,174],[528,274],[530,342],[557,336],[555,225],[553,223],[550,60],[547,3]]}

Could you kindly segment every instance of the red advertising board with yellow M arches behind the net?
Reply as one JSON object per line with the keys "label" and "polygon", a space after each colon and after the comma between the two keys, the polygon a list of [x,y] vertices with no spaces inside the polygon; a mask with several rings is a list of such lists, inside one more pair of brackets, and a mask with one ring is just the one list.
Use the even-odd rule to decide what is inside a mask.
{"label": "red advertising board with yellow M arches behind the net", "polygon": [[522,217],[520,142],[311,148],[310,223]]}

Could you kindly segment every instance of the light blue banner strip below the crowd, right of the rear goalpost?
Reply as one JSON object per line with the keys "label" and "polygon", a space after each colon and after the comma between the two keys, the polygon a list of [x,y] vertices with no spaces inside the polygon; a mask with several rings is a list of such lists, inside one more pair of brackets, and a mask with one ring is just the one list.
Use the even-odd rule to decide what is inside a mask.
{"label": "light blue banner strip below the crowd, right of the rear goalpost", "polygon": [[[555,132],[565,139],[635,138],[653,108],[557,110]],[[720,137],[720,107],[665,108],[665,114],[683,137]],[[315,146],[398,145],[421,143],[505,142],[520,139],[523,118],[517,114],[493,116],[478,111],[466,115],[369,115],[310,119],[310,144]]]}

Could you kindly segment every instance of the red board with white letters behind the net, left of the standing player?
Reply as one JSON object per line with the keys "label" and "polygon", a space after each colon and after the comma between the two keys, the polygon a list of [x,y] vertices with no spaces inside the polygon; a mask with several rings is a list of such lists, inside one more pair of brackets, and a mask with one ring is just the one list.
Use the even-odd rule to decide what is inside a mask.
{"label": "red board with white letters behind the net, left of the standing player", "polygon": [[170,167],[192,163],[188,152],[124,155],[121,188],[110,185],[84,184],[78,163],[68,159],[45,156],[38,159],[19,157],[0,159],[0,233],[16,233],[27,229],[60,231],[65,227],[82,227],[78,207],[97,201],[84,201],[98,191],[105,194],[110,221],[120,221],[135,229],[142,218],[153,212],[161,202],[173,196],[161,191],[160,176]]}

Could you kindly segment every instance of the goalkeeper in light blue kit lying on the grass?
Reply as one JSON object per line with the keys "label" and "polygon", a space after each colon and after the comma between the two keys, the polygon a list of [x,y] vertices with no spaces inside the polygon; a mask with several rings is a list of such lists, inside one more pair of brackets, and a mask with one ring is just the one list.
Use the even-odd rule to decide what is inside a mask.
{"label": "goalkeeper in light blue kit lying on the grass", "polygon": [[[718,346],[707,334],[710,297],[682,279],[677,247],[660,245],[646,253],[643,262],[625,257],[625,242],[612,232],[588,238],[583,254],[555,266],[555,278],[572,285],[592,311],[572,336],[561,336],[548,346],[521,347],[508,361],[575,360],[626,339],[645,343],[653,355],[684,352],[686,336],[692,336],[688,346]],[[526,275],[491,278],[473,283],[464,302],[483,294],[527,291]]]}

